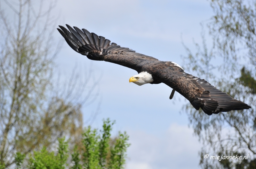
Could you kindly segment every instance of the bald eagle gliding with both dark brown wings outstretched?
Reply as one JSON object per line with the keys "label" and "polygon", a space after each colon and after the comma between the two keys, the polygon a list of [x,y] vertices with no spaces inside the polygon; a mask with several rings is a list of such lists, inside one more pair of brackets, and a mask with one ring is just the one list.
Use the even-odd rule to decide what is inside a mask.
{"label": "bald eagle gliding with both dark brown wings outstretched", "polygon": [[207,115],[251,108],[218,90],[204,79],[187,74],[177,63],[160,61],[129,48],[120,47],[116,43],[110,44],[110,40],[86,29],[73,29],[69,25],[67,27],[70,32],[63,26],[57,29],[76,52],[91,60],[104,60],[136,70],[139,74],[132,76],[129,82],[139,86],[147,83],[164,83],[173,89],[170,99],[177,91],[188,99],[196,110],[201,108]]}

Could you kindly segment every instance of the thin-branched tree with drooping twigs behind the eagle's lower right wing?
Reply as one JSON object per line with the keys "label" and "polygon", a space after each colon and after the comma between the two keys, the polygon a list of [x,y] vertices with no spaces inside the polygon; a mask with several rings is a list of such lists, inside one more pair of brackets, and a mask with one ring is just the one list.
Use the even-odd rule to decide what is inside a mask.
{"label": "thin-branched tree with drooping twigs behind the eagle's lower right wing", "polygon": [[[212,0],[211,6],[214,16],[208,26],[213,47],[208,50],[203,33],[203,47],[196,43],[198,52],[193,54],[185,46],[188,56],[184,61],[187,60],[186,66],[192,67],[198,76],[210,79],[214,86],[237,100],[248,102],[252,109],[212,116],[196,112],[189,105],[184,110],[203,143],[199,153],[203,168],[255,168],[256,1]],[[204,158],[205,154],[225,158],[212,160]],[[226,159],[226,156],[236,155],[242,159]],[[249,158],[244,159],[244,156]]]}

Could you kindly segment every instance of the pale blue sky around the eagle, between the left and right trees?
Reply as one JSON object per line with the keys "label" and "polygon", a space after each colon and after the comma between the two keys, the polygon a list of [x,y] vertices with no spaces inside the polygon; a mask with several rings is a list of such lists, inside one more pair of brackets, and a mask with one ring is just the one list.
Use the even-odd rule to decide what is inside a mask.
{"label": "pale blue sky around the eagle, between the left and right trees", "polygon": [[[85,28],[120,46],[182,67],[180,55],[186,52],[181,34],[184,43],[194,49],[192,39],[201,43],[200,22],[209,19],[212,10],[206,0],[61,0],[54,14],[60,14],[60,25]],[[56,37],[62,38],[57,30]],[[180,113],[189,103],[180,94],[176,92],[169,100],[172,89],[164,84],[129,83],[129,78],[137,74],[135,70],[91,61],[66,42],[56,65],[62,78],[69,78],[75,66],[83,74],[90,65],[95,78],[101,77],[98,99],[83,107],[84,122],[100,102],[92,126],[100,128],[102,119],[109,117],[116,120],[113,135],[127,131],[131,143],[127,169],[199,168],[201,144],[188,127],[187,115]]]}

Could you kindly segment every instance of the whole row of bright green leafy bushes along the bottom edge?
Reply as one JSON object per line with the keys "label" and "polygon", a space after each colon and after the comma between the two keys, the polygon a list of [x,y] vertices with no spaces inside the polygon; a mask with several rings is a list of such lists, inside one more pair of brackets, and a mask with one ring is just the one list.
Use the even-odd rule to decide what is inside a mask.
{"label": "whole row of bright green leafy bushes along the bottom edge", "polygon": [[[28,159],[29,169],[121,169],[124,168],[126,150],[129,136],[126,132],[119,132],[118,136],[111,139],[110,132],[115,122],[103,120],[102,130],[85,128],[83,133],[83,147],[74,147],[73,152],[68,149],[65,137],[59,138],[57,152],[48,151],[50,147],[43,147],[41,151],[30,153]],[[68,160],[71,154],[70,161]],[[15,164],[20,168],[25,155],[16,153]],[[4,168],[4,167],[2,167]]]}

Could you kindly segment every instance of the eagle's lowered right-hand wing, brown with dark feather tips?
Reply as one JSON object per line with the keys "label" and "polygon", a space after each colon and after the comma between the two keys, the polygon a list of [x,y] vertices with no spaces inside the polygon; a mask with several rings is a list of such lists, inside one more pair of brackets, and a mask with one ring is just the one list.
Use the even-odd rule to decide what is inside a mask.
{"label": "eagle's lowered right-hand wing, brown with dark feather tips", "polygon": [[172,62],[159,63],[158,67],[161,67],[155,72],[159,78],[158,81],[162,81],[179,92],[195,109],[201,108],[208,115],[217,114],[220,111],[251,108],[244,102],[233,99],[227,93],[215,88],[204,79],[185,73],[182,68],[175,66]]}

